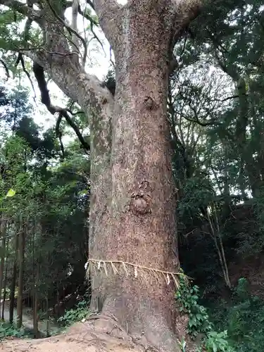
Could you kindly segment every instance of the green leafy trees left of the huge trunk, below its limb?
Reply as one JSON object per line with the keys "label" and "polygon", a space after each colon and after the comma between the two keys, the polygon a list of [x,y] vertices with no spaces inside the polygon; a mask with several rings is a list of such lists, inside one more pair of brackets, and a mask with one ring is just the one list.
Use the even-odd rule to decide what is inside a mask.
{"label": "green leafy trees left of the huge trunk, below its limb", "polygon": [[[0,206],[1,219],[8,222],[4,244],[8,247],[3,247],[3,251],[0,247],[0,261],[4,260],[6,265],[1,296],[7,296],[8,292],[10,296],[16,274],[17,299],[15,246],[16,239],[24,232],[23,303],[27,298],[27,304],[33,307],[37,296],[48,320],[50,308],[57,304],[58,318],[61,307],[73,306],[78,294],[86,290],[89,158],[74,141],[61,161],[54,131],[42,134],[30,117],[32,106],[27,94],[23,95],[23,90],[16,92],[16,110],[12,105],[13,93],[8,95],[3,90],[3,94],[6,99],[0,102],[3,104],[0,130],[9,133],[2,134],[0,145]],[[5,325],[3,329],[3,334],[21,333],[13,331],[13,325]]]}

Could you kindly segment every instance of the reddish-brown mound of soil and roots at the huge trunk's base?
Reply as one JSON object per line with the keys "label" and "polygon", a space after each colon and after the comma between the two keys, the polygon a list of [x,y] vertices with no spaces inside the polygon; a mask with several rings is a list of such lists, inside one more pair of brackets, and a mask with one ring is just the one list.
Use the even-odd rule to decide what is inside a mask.
{"label": "reddish-brown mound of soil and roots at the huge trunk's base", "polygon": [[[115,317],[92,315],[71,327],[67,334],[47,339],[6,339],[3,352],[159,352],[144,337],[130,337]],[[175,348],[177,351],[177,348]],[[175,352],[170,351],[170,352]]]}

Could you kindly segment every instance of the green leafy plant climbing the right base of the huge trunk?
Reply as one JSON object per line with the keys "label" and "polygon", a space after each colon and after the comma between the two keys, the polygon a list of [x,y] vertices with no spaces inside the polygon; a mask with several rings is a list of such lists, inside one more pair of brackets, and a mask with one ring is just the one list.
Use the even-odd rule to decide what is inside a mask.
{"label": "green leafy plant climbing the right base of the huge trunk", "polygon": [[175,294],[179,310],[189,316],[187,332],[191,339],[200,336],[201,346],[197,351],[206,352],[232,352],[227,339],[227,331],[217,332],[205,307],[199,304],[199,287],[189,286],[180,279],[180,287]]}

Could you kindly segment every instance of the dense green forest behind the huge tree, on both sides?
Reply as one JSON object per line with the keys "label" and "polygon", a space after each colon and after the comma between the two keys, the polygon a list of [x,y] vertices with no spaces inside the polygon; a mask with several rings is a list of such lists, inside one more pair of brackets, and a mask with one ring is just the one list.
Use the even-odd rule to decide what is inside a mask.
{"label": "dense green forest behind the huge tree, on both sides", "polygon": [[[13,36],[1,8],[1,47]],[[203,25],[201,25],[203,23]],[[204,25],[206,24],[206,25]],[[203,28],[201,30],[201,28]],[[217,0],[182,33],[170,76],[168,122],[184,272],[235,351],[264,345],[264,4]],[[8,49],[8,48],[7,48]],[[1,62],[16,75],[11,51]],[[11,80],[11,78],[9,78]],[[6,336],[39,337],[87,313],[89,133],[78,107],[69,134],[59,117],[34,121],[29,89],[0,87],[0,298]],[[106,84],[113,88],[113,68]],[[58,122],[59,121],[59,122]],[[79,136],[80,137],[80,136]],[[32,314],[25,324],[25,309]],[[41,325],[45,320],[45,325]],[[196,322],[194,322],[194,325]],[[25,332],[25,329],[24,329]],[[224,351],[224,350],[223,350]]]}

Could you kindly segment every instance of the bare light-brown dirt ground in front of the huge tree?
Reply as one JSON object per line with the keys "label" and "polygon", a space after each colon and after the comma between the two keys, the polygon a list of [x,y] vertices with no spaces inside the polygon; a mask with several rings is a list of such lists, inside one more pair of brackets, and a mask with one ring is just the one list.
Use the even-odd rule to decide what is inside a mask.
{"label": "bare light-brown dirt ground in front of the huge tree", "polygon": [[[0,342],[2,352],[144,352],[152,348],[132,341],[111,337],[103,329],[77,323],[66,334],[46,339],[6,339]],[[153,350],[152,350],[153,351]]]}

